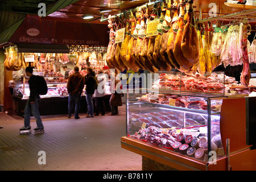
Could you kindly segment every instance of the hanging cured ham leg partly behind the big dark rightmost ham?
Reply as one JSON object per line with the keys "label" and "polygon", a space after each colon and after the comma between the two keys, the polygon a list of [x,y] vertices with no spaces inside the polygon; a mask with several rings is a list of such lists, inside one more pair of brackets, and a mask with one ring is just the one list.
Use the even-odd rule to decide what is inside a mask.
{"label": "hanging cured ham leg partly behind the big dark rightmost ham", "polygon": [[193,67],[193,64],[190,63],[183,55],[181,51],[181,40],[183,37],[183,30],[184,30],[184,23],[183,23],[183,17],[184,17],[184,5],[182,4],[182,0],[180,0],[180,15],[178,19],[178,26],[179,30],[177,31],[177,36],[174,44],[174,57],[177,61],[177,63],[180,65],[179,71],[186,72],[189,71],[190,68]]}

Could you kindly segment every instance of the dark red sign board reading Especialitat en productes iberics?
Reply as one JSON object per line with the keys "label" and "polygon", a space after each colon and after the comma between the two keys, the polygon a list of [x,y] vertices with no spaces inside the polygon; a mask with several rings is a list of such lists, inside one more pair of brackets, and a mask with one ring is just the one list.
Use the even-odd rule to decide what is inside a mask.
{"label": "dark red sign board reading Especialitat en productes iberics", "polygon": [[9,42],[108,46],[106,24],[63,22],[27,15]]}

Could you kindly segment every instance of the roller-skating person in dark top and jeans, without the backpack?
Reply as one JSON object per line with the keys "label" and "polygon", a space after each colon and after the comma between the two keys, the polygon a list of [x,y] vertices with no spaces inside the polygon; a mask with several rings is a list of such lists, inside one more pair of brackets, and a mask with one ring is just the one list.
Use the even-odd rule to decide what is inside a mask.
{"label": "roller-skating person in dark top and jeans, without the backpack", "polygon": [[33,69],[34,67],[27,67],[26,68],[26,75],[30,77],[30,80],[28,80],[28,84],[30,86],[30,97],[27,100],[27,104],[24,109],[24,126],[19,129],[22,130],[30,130],[30,116],[31,113],[34,115],[36,119],[36,130],[43,130],[44,126],[42,123],[42,119],[39,114],[39,102],[40,102],[40,96],[38,94],[38,78],[33,75]]}

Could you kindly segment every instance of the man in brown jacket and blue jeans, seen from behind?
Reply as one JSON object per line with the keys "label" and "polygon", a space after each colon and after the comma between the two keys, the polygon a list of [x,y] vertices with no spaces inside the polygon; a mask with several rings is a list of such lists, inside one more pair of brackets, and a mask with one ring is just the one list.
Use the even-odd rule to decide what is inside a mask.
{"label": "man in brown jacket and blue jeans, seen from behind", "polygon": [[68,118],[72,116],[73,103],[75,102],[75,119],[79,119],[79,109],[82,89],[84,89],[84,76],[79,73],[79,67],[74,68],[74,73],[68,77]]}

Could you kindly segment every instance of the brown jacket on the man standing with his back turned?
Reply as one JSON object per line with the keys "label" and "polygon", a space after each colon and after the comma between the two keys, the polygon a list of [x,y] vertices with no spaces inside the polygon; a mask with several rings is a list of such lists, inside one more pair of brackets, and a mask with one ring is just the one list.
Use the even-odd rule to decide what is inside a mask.
{"label": "brown jacket on the man standing with his back turned", "polygon": [[84,89],[84,76],[79,72],[69,75],[67,89],[68,93],[82,93],[82,89]]}

